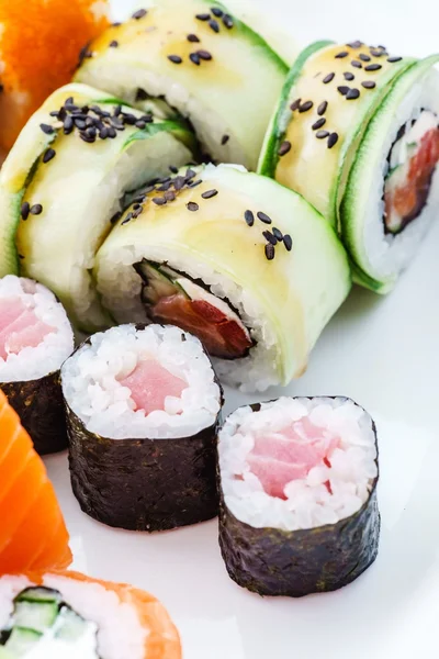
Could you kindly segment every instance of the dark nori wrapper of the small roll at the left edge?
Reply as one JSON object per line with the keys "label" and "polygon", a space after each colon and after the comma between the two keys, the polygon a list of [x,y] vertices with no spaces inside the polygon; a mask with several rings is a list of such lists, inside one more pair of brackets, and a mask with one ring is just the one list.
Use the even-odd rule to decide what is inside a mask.
{"label": "dark nori wrapper of the small roll at the left edge", "polygon": [[66,414],[59,371],[24,382],[0,382],[40,455],[67,448]]}

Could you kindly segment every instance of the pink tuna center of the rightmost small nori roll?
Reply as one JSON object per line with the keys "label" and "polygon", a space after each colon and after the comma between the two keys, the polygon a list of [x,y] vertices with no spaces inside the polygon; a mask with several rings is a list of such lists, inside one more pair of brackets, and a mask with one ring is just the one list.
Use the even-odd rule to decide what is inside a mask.
{"label": "pink tuna center of the rightmost small nori roll", "polygon": [[[339,437],[315,426],[308,417],[294,422],[279,433],[255,435],[255,447],[247,456],[250,471],[270,496],[286,499],[285,485],[304,479],[314,467],[330,467],[330,456]],[[330,485],[327,483],[330,491]]]}

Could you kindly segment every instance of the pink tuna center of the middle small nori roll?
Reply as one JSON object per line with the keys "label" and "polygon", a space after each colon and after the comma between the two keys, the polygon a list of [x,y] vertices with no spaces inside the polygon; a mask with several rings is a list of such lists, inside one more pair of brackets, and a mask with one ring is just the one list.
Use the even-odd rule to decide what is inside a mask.
{"label": "pink tuna center of the middle small nori roll", "polygon": [[146,414],[165,410],[168,395],[181,398],[188,388],[188,382],[170,373],[155,359],[139,361],[134,371],[120,382],[130,389],[136,410],[143,410]]}

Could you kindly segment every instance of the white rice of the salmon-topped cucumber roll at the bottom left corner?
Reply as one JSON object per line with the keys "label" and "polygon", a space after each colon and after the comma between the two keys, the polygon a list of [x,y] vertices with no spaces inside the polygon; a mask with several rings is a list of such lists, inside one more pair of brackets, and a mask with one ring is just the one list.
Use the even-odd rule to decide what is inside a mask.
{"label": "white rice of the salmon-topped cucumber roll at the bottom left corner", "polygon": [[[36,584],[25,577],[0,578],[0,629],[8,625],[13,613],[13,599],[32,585]],[[105,590],[99,583],[87,583],[58,574],[46,574],[43,583],[37,585],[58,591],[76,613],[97,625],[98,651],[102,659],[144,658],[148,630],[143,628],[135,607],[121,602],[116,593]],[[79,650],[78,658],[87,657],[80,648],[76,649]],[[48,651],[47,647],[46,650]],[[49,651],[44,655],[47,659],[52,656]],[[42,657],[37,654],[37,648],[29,655],[29,659],[34,657]]]}

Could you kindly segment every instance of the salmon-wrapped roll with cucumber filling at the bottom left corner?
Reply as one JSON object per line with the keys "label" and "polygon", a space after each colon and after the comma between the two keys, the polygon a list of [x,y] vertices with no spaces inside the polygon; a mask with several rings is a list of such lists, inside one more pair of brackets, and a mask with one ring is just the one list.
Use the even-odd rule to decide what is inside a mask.
{"label": "salmon-wrapped roll with cucumber filling at the bottom left corner", "polygon": [[79,572],[0,577],[0,659],[181,659],[156,597]]}

